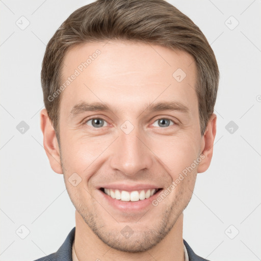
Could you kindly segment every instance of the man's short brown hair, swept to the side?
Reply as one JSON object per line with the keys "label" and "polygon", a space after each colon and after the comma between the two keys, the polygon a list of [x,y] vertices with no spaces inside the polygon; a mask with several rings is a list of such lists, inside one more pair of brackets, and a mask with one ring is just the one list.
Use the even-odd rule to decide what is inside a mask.
{"label": "man's short brown hair, swept to the side", "polygon": [[110,39],[157,44],[186,51],[194,57],[200,132],[203,135],[214,112],[219,70],[214,52],[197,25],[164,0],[97,0],[74,11],[46,46],[41,84],[44,105],[58,142],[61,95],[52,100],[48,97],[61,85],[66,52],[77,44]]}

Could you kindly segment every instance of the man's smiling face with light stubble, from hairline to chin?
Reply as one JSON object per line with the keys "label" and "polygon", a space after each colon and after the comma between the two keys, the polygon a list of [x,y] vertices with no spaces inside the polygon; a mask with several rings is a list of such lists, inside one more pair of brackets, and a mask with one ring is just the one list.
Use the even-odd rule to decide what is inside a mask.
{"label": "man's smiling face with light stubble, from hairline to chin", "polygon": [[[92,56],[96,49],[100,54]],[[89,56],[96,58],[79,67]],[[65,56],[62,83],[75,69],[80,73],[61,94],[65,185],[76,211],[112,248],[139,252],[155,246],[191,199],[198,165],[157,206],[152,204],[202,149],[193,61],[183,51],[120,41],[87,43]],[[160,102],[175,106],[151,109]],[[81,103],[101,103],[110,110],[87,111]],[[121,196],[122,190],[138,191],[133,196],[123,192],[125,200],[143,198],[141,191],[148,188],[162,190],[124,201],[101,188],[118,189]]]}

